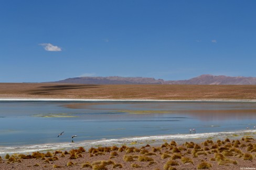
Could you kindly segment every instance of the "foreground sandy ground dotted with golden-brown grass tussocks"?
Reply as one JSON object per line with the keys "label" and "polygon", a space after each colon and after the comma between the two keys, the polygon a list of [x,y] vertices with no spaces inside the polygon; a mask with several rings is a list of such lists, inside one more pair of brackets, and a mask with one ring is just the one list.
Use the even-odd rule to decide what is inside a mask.
{"label": "foreground sandy ground dotted with golden-brown grass tussocks", "polygon": [[256,168],[256,140],[205,140],[159,145],[100,146],[13,154],[2,157],[0,169],[241,169]]}

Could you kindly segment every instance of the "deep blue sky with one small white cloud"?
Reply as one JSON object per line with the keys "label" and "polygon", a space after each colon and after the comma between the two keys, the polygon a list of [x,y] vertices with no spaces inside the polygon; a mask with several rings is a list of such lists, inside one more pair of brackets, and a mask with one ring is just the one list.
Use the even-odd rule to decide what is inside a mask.
{"label": "deep blue sky with one small white cloud", "polygon": [[0,1],[0,82],[256,77],[256,1]]}

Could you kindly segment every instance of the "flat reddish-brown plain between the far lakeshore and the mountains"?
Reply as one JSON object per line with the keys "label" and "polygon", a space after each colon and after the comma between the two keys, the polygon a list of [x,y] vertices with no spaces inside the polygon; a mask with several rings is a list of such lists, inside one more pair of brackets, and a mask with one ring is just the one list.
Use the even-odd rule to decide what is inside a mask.
{"label": "flat reddish-brown plain between the far lakeshore and the mountains", "polygon": [[0,98],[256,100],[256,85],[0,83]]}

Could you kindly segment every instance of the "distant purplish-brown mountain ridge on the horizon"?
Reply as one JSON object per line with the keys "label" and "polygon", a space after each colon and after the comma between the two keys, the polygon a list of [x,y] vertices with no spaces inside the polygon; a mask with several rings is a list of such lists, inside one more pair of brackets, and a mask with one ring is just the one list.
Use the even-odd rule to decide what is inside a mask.
{"label": "distant purplish-brown mountain ridge on the horizon", "polygon": [[76,83],[76,84],[194,84],[194,85],[256,85],[256,77],[230,77],[225,75],[203,74],[189,80],[164,81],[147,77],[74,77],[57,82],[47,83]]}

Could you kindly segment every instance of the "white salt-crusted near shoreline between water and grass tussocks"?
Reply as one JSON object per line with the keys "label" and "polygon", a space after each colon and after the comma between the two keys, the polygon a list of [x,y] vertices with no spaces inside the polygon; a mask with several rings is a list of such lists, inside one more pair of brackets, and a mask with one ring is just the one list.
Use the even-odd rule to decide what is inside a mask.
{"label": "white salt-crusted near shoreline between water and grass tussocks", "polygon": [[210,140],[225,140],[226,138],[236,140],[244,136],[250,136],[256,138],[255,130],[238,130],[229,132],[211,132],[211,133],[196,133],[196,134],[170,134],[170,135],[155,135],[155,136],[142,136],[142,137],[130,137],[120,139],[101,139],[101,140],[86,140],[80,142],[63,142],[63,143],[45,143],[45,144],[31,144],[31,145],[17,145],[17,146],[0,146],[0,156],[5,154],[24,154],[33,152],[44,152],[49,150],[71,150],[82,146],[85,149],[92,147],[108,147],[108,146],[143,146],[150,144],[152,146],[159,146],[166,141],[176,141],[178,144],[185,142],[200,143],[207,139]]}

